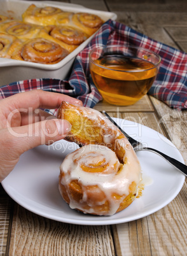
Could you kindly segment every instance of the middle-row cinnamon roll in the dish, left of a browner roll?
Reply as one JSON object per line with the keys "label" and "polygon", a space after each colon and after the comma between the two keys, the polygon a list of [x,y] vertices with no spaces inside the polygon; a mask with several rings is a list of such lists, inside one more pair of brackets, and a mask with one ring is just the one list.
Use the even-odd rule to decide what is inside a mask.
{"label": "middle-row cinnamon roll in the dish, left of a browner roll", "polygon": [[0,24],[1,32],[6,32],[20,39],[38,38],[42,29],[43,27],[41,26],[27,24],[18,20]]}

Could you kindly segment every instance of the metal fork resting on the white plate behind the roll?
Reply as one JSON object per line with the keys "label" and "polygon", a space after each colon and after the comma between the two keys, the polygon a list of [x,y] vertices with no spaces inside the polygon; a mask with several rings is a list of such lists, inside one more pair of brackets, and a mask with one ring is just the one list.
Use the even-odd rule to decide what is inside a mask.
{"label": "metal fork resting on the white plate behind the roll", "polygon": [[104,113],[104,115],[106,115],[106,117],[114,125],[116,125],[116,127],[118,127],[118,129],[120,129],[120,131],[127,137],[128,141],[130,142],[130,144],[132,145],[132,147],[134,148],[135,151],[147,150],[147,151],[156,153],[156,154],[160,155],[161,157],[163,157],[163,159],[167,160],[167,162],[169,162],[169,164],[176,167],[185,176],[187,176],[187,166],[185,164],[179,162],[178,160],[176,160],[172,157],[169,157],[168,155],[165,155],[165,153],[162,153],[162,152],[156,150],[155,148],[149,148],[147,146],[143,146],[142,143],[131,138],[125,131],[123,131],[123,129],[121,129],[121,127],[118,124],[116,124],[116,122],[114,122],[114,120],[106,113],[106,111],[102,111],[102,113]]}

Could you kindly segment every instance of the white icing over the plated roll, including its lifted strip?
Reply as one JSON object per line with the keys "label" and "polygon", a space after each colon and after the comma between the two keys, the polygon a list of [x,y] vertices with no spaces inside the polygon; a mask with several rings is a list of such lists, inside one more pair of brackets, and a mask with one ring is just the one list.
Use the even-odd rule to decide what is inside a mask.
{"label": "white icing over the plated roll, including its lifted strip", "polygon": [[[81,115],[83,114],[84,118],[89,118],[93,121],[93,125],[97,124],[97,127],[101,128],[104,144],[114,143],[116,147],[120,146],[125,149],[124,164],[120,164],[116,153],[107,146],[86,145],[70,153],[64,159],[60,166],[60,172],[63,173],[60,182],[66,187],[71,208],[79,209],[85,213],[94,212],[97,215],[113,215],[120,207],[123,199],[130,193],[129,186],[133,182],[137,186],[139,185],[141,181],[141,166],[128,139],[117,139],[121,132],[108,118],[101,115],[97,110],[85,107],[79,108],[83,112]],[[97,166],[100,162],[104,165],[104,171],[102,172],[88,172],[82,168],[82,164],[85,166]],[[68,184],[73,180],[78,180],[82,187],[83,198],[80,202],[75,201],[69,192]],[[90,201],[88,199],[89,186],[96,186],[95,194],[100,191],[104,194],[100,201],[95,202],[95,204],[93,204],[93,200]],[[116,194],[120,199],[119,197],[116,199],[114,196]],[[106,201],[109,203],[109,211],[107,213],[95,212],[95,205],[102,205]],[[86,210],[85,205],[89,206]]]}

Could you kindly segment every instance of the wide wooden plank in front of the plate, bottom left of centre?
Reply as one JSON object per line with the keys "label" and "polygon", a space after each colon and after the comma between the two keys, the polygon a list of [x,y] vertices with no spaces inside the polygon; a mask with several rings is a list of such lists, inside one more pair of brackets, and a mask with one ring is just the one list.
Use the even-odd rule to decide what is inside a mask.
{"label": "wide wooden plank in front of the plate, bottom left of centre", "polygon": [[10,255],[114,255],[109,226],[71,225],[15,207]]}

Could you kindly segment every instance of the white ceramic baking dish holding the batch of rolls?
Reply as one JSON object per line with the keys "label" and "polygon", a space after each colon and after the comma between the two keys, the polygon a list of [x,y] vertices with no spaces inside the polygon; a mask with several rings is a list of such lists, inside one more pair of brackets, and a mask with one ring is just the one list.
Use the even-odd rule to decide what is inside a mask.
{"label": "white ceramic baking dish holding the batch of rolls", "polygon": [[[102,20],[107,21],[109,19],[116,19],[116,14],[107,11],[97,11],[85,8],[78,4],[69,4],[55,1],[22,1],[22,0],[0,0],[0,14],[11,15],[11,17],[21,19],[22,13],[27,9],[30,4],[36,4],[36,6],[55,6],[61,8],[64,11],[73,12],[87,12],[99,15]],[[22,60],[4,59],[0,58],[0,86],[7,85],[11,82],[17,82],[22,80],[34,79],[34,78],[56,78],[63,80],[71,71],[73,61],[76,55],[85,48],[90,39],[88,38],[83,42],[76,50],[69,53],[66,58],[61,60],[57,64],[47,65],[38,64],[34,62],[26,62]]]}

